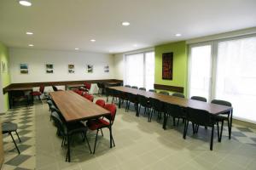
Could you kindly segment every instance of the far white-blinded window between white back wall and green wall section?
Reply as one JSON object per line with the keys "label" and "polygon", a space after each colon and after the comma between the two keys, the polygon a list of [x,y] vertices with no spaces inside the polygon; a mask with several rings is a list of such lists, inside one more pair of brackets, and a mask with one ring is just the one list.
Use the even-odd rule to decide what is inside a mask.
{"label": "far white-blinded window between white back wall and green wall section", "polygon": [[154,88],[154,52],[125,55],[125,84]]}

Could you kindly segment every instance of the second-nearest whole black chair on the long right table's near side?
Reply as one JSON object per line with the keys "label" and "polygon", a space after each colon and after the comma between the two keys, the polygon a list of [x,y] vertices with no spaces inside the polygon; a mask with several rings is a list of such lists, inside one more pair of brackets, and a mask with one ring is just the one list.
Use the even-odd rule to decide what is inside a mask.
{"label": "second-nearest whole black chair on the long right table's near side", "polygon": [[[176,124],[178,125],[180,118],[183,120],[186,118],[184,110],[181,106],[165,103],[164,107],[165,107],[165,119],[163,123],[164,128],[166,128],[166,122],[167,122],[168,116],[172,116],[173,126],[176,126]],[[176,122],[176,118],[177,118],[177,122]]]}

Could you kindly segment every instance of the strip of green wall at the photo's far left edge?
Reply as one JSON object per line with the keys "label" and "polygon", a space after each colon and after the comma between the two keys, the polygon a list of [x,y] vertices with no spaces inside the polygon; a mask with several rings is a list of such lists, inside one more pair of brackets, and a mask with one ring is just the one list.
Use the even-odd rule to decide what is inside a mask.
{"label": "strip of green wall at the photo's far left edge", "polygon": [[[6,65],[6,71],[2,71],[2,62]],[[10,76],[9,76],[9,53],[8,48],[0,42],[0,65],[1,65],[1,78],[2,78],[2,85],[3,88],[8,86],[10,83]],[[1,89],[2,90],[2,89]],[[8,94],[4,94],[4,110],[7,111],[9,109],[9,99]]]}

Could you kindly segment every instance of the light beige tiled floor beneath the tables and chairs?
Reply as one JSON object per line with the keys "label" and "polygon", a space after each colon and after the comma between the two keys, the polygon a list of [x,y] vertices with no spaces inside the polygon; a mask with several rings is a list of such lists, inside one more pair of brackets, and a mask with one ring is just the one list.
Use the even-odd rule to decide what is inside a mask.
{"label": "light beige tiled floor beneath the tables and chairs", "polygon": [[[80,136],[76,136],[72,142],[72,162],[68,163],[65,161],[67,148],[61,148],[61,138],[57,137],[56,128],[49,121],[48,105],[35,105],[32,111],[35,113],[35,124],[33,124],[35,126],[32,126],[35,127],[33,133],[35,139],[30,132],[26,136],[32,137],[27,140],[31,140],[29,144],[33,144],[32,141],[36,142],[36,155],[30,158],[20,156],[20,162],[23,162],[22,159],[26,161],[20,163],[18,167],[7,163],[13,158],[10,156],[11,158],[5,160],[4,170],[35,168],[32,166],[40,170],[256,169],[256,130],[251,127],[234,124],[230,140],[225,128],[221,143],[218,143],[215,133],[213,150],[210,151],[210,130],[200,128],[199,133],[193,135],[189,126],[188,137],[183,139],[183,123],[178,127],[172,127],[172,122],[168,122],[167,129],[163,130],[162,121],[156,121],[154,118],[152,122],[147,122],[147,117],[143,114],[137,117],[133,109],[125,112],[124,108],[117,111],[113,123],[116,147],[109,148],[108,129],[103,130],[103,137],[99,135],[95,155],[90,154],[88,146],[81,141]],[[28,128],[32,129],[32,127]],[[93,147],[95,132],[89,132],[88,138],[90,146]],[[4,147],[6,155],[19,157],[15,153],[14,145],[12,143],[8,145],[9,147]],[[33,149],[26,150],[31,150],[27,151],[28,153],[33,152]]]}

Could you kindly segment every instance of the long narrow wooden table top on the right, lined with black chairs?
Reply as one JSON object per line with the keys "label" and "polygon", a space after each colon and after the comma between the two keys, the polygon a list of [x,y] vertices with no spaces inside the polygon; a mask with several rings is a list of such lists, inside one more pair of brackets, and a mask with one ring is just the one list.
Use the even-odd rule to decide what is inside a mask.
{"label": "long narrow wooden table top on the right, lined with black chairs", "polygon": [[180,105],[182,107],[191,107],[194,109],[205,110],[214,115],[218,115],[218,114],[221,114],[221,113],[224,113],[227,111],[231,111],[233,109],[232,107],[225,106],[225,105],[216,105],[216,104],[198,101],[195,99],[185,99],[185,98],[179,98],[179,97],[171,96],[171,95],[157,94],[154,92],[147,92],[147,91],[143,91],[143,90],[139,90],[139,89],[135,89],[135,88],[126,88],[123,86],[111,87],[111,88],[118,90],[118,91],[125,92],[125,93],[143,95],[147,98],[160,99],[160,101],[163,101],[166,103],[171,103],[174,105]]}

